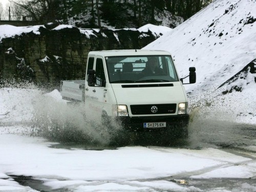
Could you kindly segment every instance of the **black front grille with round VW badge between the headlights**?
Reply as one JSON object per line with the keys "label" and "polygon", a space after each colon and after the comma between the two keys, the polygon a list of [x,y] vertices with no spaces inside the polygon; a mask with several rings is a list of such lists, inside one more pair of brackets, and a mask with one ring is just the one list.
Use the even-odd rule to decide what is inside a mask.
{"label": "black front grille with round VW badge between the headlights", "polygon": [[177,104],[134,104],[130,106],[133,115],[153,115],[175,113]]}

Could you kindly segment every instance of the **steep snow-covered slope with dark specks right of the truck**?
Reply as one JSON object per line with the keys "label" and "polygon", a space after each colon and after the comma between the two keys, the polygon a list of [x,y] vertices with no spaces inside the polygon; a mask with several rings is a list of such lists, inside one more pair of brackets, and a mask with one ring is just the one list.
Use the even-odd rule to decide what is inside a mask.
{"label": "steep snow-covered slope with dark specks right of the truck", "polygon": [[191,104],[256,122],[255,10],[255,1],[217,0],[143,49],[172,53],[180,77],[196,67],[197,83],[186,86]]}

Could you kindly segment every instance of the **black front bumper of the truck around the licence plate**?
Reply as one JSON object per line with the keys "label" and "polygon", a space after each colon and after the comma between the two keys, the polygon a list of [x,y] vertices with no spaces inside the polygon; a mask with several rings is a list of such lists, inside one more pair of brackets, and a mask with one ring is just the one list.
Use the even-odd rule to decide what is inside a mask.
{"label": "black front bumper of the truck around the licence plate", "polygon": [[[186,129],[189,122],[189,115],[168,115],[168,116],[142,116],[142,117],[116,117],[115,120],[131,131],[163,131],[167,129]],[[166,127],[144,128],[145,122],[166,122]]]}

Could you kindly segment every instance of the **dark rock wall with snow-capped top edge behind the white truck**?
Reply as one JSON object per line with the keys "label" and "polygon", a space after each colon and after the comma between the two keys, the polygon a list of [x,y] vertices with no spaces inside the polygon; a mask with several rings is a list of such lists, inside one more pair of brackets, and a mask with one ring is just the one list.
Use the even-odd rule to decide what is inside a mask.
{"label": "dark rock wall with snow-capped top edge behind the white truck", "polygon": [[59,86],[60,80],[84,79],[89,51],[141,49],[155,37],[151,31],[50,29],[4,38],[0,42],[0,79],[14,78]]}

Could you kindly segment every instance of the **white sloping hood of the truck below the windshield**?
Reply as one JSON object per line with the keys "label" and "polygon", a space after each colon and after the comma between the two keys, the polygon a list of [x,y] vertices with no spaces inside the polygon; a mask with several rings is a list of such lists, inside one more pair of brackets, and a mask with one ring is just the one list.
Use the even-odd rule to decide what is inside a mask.
{"label": "white sloping hood of the truck below the windshield", "polygon": [[117,104],[160,104],[186,102],[180,82],[168,83],[113,83]]}

